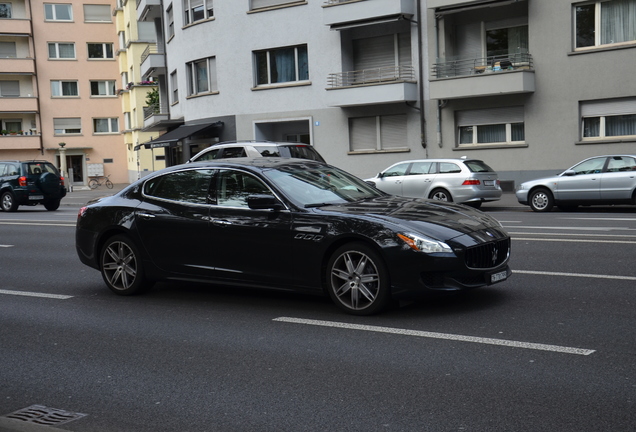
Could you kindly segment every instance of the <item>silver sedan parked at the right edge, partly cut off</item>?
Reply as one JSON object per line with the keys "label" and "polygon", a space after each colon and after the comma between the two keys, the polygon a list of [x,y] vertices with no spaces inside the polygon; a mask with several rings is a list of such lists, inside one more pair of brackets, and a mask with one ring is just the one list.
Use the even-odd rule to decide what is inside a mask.
{"label": "silver sedan parked at the right edge, partly cut off", "polygon": [[550,211],[555,205],[562,210],[579,205],[636,205],[636,156],[591,157],[557,176],[520,184],[516,195],[536,212]]}

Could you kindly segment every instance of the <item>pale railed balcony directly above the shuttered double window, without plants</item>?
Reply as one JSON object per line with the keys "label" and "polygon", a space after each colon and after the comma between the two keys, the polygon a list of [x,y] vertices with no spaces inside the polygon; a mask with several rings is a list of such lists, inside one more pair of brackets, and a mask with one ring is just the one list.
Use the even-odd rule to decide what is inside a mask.
{"label": "pale railed balcony directly above the shuttered double window, without plants", "polygon": [[395,66],[330,74],[327,104],[334,107],[417,101],[415,70]]}

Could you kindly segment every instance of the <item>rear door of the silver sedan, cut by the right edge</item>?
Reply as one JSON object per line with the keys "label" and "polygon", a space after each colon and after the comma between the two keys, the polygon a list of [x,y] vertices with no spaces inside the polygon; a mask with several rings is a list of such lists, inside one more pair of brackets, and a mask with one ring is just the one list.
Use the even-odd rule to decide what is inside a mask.
{"label": "rear door of the silver sedan, cut by the right edge", "polygon": [[636,189],[636,159],[612,156],[601,176],[601,200],[628,200]]}

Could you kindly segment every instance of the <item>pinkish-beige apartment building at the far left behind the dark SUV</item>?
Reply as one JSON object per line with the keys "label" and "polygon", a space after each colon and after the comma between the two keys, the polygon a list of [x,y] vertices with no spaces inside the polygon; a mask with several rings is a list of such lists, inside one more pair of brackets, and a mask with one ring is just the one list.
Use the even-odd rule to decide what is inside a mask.
{"label": "pinkish-beige apartment building at the far left behind the dark SUV", "polygon": [[69,185],[128,181],[113,7],[0,0],[0,158],[49,160]]}

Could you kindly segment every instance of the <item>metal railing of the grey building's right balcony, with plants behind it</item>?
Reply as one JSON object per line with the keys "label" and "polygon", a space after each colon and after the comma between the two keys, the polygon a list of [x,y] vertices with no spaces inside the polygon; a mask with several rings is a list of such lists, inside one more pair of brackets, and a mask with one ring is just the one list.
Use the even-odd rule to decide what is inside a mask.
{"label": "metal railing of the grey building's right balcony, with plants behind it", "polygon": [[433,64],[434,78],[450,78],[490,72],[512,70],[532,70],[532,55],[529,53],[508,53],[481,58],[445,59]]}

